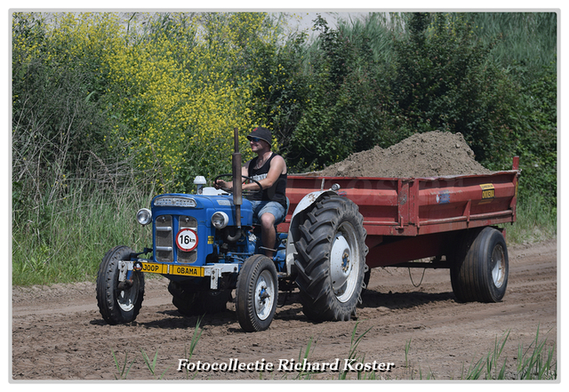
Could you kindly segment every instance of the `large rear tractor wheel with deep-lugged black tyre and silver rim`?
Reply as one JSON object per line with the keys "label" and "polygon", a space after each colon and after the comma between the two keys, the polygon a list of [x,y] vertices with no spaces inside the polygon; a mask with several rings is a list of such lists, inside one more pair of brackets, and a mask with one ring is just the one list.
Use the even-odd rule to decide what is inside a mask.
{"label": "large rear tractor wheel with deep-lugged black tyre and silver rim", "polygon": [[296,283],[303,312],[314,321],[348,321],[364,286],[364,219],[345,197],[324,196],[307,212],[295,241]]}

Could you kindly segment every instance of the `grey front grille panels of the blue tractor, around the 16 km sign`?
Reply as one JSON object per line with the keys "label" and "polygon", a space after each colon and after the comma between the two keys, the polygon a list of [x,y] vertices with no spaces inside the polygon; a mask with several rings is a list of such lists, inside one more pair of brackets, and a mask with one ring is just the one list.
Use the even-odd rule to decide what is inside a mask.
{"label": "grey front grille panels of the blue tractor, around the 16 km sign", "polygon": [[[178,230],[192,228],[197,232],[197,220],[191,216],[181,215]],[[156,218],[156,261],[172,262],[174,260],[174,228],[172,215],[161,215]],[[182,252],[178,250],[178,262],[193,263],[197,260],[197,250]]]}

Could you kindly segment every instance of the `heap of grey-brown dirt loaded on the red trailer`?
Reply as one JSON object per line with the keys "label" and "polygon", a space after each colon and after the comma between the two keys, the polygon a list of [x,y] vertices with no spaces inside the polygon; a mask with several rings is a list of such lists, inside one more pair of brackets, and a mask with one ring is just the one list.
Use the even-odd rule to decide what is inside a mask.
{"label": "heap of grey-brown dirt loaded on the red trailer", "polygon": [[439,177],[488,174],[461,133],[425,132],[389,147],[352,154],[317,175],[329,177]]}

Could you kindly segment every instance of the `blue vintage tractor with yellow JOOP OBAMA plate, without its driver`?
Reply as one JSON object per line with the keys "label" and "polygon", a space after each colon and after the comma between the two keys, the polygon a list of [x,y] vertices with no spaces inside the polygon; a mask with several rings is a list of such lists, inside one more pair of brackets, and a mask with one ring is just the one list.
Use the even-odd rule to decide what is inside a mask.
{"label": "blue vintage tractor with yellow JOOP OBAMA plate, without its driver", "polygon": [[141,225],[152,225],[152,248],[134,252],[116,246],[105,254],[96,291],[100,314],[109,324],[130,323],[138,316],[145,273],[169,279],[172,303],[182,315],[221,311],[235,290],[236,316],[245,332],[268,328],[279,289],[298,288],[303,313],[312,320],[355,315],[367,269],[357,205],[338,195],[338,187],[304,196],[288,233],[277,233],[274,256],[268,258],[253,224],[252,204],[237,180],[242,176],[236,130],[235,151],[233,172],[217,177],[232,176],[234,189],[204,188],[201,177],[196,195],[154,197],[150,209],[136,215]]}

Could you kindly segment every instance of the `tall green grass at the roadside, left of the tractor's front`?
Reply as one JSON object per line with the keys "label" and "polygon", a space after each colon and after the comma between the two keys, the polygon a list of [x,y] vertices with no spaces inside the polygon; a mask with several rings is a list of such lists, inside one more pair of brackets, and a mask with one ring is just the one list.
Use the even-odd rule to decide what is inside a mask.
{"label": "tall green grass at the roadside, left of the tractor's front", "polygon": [[135,219],[150,197],[68,196],[41,212],[14,214],[12,284],[94,281],[100,260],[124,244],[141,251],[151,246],[151,230]]}

